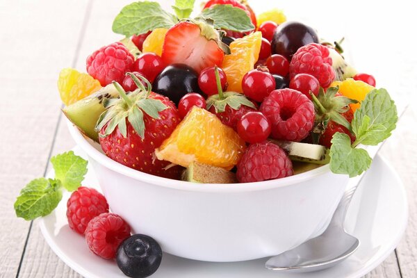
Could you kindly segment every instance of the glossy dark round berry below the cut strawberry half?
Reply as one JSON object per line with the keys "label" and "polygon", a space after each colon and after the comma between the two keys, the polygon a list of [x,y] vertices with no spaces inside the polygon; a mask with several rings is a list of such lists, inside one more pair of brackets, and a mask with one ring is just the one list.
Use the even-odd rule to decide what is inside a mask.
{"label": "glossy dark round berry below the cut strawberry half", "polygon": [[188,65],[172,64],[156,76],[152,88],[178,105],[181,97],[188,92],[199,92],[198,74]]}

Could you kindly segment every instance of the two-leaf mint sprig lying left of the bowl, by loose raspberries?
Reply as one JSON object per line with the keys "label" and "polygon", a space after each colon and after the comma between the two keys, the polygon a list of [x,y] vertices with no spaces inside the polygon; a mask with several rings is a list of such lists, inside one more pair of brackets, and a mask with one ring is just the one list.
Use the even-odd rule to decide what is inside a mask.
{"label": "two-leaf mint sprig lying left of the bowl, by loose raspberries", "polygon": [[55,179],[33,179],[21,191],[15,202],[17,217],[33,220],[54,211],[63,197],[63,188],[74,191],[81,186],[87,173],[87,161],[74,152],[51,158]]}

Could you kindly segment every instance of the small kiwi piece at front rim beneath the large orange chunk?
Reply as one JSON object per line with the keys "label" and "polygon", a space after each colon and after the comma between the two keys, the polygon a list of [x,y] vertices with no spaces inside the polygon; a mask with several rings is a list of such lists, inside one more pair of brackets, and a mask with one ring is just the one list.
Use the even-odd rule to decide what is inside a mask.
{"label": "small kiwi piece at front rim beneath the large orange chunk", "polygon": [[220,167],[194,161],[182,175],[183,181],[194,183],[237,183],[236,174]]}

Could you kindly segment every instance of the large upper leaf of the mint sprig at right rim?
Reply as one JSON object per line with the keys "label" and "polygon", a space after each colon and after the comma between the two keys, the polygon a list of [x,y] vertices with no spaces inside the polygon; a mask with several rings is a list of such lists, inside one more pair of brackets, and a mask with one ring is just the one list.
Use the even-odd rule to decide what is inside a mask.
{"label": "large upper leaf of the mint sprig at right rim", "polygon": [[397,108],[385,89],[368,92],[354,112],[352,130],[357,138],[354,145],[378,145],[391,136],[397,120]]}

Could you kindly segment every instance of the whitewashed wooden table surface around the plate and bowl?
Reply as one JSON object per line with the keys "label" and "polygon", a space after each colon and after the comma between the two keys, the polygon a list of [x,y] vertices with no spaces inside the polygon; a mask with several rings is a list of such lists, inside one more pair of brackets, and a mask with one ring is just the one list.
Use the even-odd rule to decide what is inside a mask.
{"label": "whitewashed wooden table surface around the plate and bowl", "polygon": [[[126,3],[0,1],[0,277],[80,277],[51,251],[36,220],[16,218],[13,203],[28,181],[47,173],[51,156],[74,147],[60,113],[58,73],[85,71],[88,54],[120,40],[111,22]],[[417,23],[407,1],[396,3],[305,3],[329,26],[345,22],[341,36],[350,38],[355,65],[409,103],[381,150],[407,188],[409,224],[395,252],[366,278],[417,277]]]}

